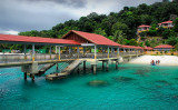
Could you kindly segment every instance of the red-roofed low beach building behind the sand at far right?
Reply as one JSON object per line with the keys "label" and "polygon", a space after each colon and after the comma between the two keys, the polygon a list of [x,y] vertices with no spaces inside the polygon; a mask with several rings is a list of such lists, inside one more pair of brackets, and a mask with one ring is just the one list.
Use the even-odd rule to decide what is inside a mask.
{"label": "red-roofed low beach building behind the sand at far right", "polygon": [[174,49],[175,47],[169,46],[169,44],[160,44],[154,48],[154,50],[156,51],[170,51],[171,49]]}

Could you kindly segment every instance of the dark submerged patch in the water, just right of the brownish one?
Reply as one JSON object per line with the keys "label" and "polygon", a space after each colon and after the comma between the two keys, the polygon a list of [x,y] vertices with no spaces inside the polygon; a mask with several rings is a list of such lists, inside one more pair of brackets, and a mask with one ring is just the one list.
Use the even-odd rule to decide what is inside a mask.
{"label": "dark submerged patch in the water, just right of the brownish one", "polygon": [[130,77],[113,77],[112,79],[116,81],[119,81],[119,82],[129,82],[129,81],[137,80],[137,79],[130,78]]}

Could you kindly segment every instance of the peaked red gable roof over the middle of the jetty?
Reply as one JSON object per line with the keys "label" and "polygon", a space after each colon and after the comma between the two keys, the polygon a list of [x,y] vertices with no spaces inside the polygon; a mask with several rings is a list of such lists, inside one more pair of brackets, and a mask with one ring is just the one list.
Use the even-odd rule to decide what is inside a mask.
{"label": "peaked red gable roof over the middle of the jetty", "polygon": [[69,33],[76,33],[78,36],[80,36],[81,38],[95,43],[95,44],[100,44],[100,46],[121,46],[115,41],[109,40],[108,38],[100,36],[100,34],[96,34],[96,33],[88,33],[88,32],[82,32],[82,31],[76,31],[76,30],[71,30],[69,31],[67,34],[65,34],[62,38],[66,38]]}

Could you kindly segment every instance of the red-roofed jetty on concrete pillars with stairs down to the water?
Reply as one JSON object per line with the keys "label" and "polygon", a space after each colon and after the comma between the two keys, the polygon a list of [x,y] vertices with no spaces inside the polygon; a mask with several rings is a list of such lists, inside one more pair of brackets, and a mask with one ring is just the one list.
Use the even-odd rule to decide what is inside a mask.
{"label": "red-roofed jetty on concrete pillars with stairs down to the water", "polygon": [[[61,72],[47,74],[46,78],[60,79],[69,76],[81,62],[83,70],[89,62],[96,74],[100,61],[108,71],[110,62],[116,62],[118,69],[121,60],[129,61],[144,54],[141,47],[119,44],[100,34],[76,30],[70,30],[61,39],[0,34],[0,43],[23,46],[21,53],[0,53],[0,68],[21,67],[24,80],[27,74],[34,80],[36,74],[44,73],[53,66],[57,66],[56,70],[62,69]],[[27,52],[29,47],[31,52]],[[39,53],[38,50],[43,47],[48,47],[48,52]],[[39,69],[40,64],[46,66]]]}

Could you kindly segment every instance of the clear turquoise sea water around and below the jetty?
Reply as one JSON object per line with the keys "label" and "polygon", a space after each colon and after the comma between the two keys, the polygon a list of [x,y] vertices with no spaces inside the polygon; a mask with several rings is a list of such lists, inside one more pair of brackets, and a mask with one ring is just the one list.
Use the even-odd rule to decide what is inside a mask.
{"label": "clear turquoise sea water around and below the jetty", "polygon": [[88,69],[59,81],[36,77],[34,82],[24,81],[20,68],[0,69],[0,110],[78,109],[178,109],[178,68],[119,64],[116,70],[111,64],[107,72],[98,66],[97,74]]}

